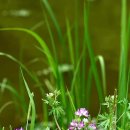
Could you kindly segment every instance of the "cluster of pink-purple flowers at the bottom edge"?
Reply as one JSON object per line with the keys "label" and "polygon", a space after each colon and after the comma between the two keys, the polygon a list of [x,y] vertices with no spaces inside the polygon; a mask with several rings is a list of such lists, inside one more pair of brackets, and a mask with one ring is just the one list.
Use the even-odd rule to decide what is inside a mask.
{"label": "cluster of pink-purple flowers at the bottom edge", "polygon": [[96,124],[91,121],[89,112],[85,108],[78,109],[75,116],[68,130],[97,130]]}

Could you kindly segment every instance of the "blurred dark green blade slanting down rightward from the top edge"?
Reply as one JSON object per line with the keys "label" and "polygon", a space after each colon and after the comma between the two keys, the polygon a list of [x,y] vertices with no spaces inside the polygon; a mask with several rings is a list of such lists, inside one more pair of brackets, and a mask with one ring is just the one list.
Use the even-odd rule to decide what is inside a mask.
{"label": "blurred dark green blade slanting down rightward from the top edge", "polygon": [[49,3],[48,3],[48,0],[42,0],[42,2],[44,3],[44,5],[45,5],[45,7],[46,7],[46,9],[47,9],[53,23],[54,23],[54,26],[55,26],[55,28],[57,30],[58,37],[59,37],[59,40],[60,40],[61,44],[64,44],[64,38],[62,36],[61,28],[60,28],[59,23],[57,22],[57,20],[55,18],[55,15],[54,15],[54,13],[53,13],[53,11],[52,11]]}

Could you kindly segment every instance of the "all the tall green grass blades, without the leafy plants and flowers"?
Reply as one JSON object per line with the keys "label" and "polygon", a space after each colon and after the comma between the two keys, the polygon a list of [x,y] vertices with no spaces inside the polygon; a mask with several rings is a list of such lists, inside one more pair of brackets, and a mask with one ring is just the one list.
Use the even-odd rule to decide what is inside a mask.
{"label": "all the tall green grass blades, without the leafy plants and flowers", "polygon": [[[126,2],[127,0],[122,0],[122,16],[121,16],[121,56],[120,56],[120,73],[119,73],[119,86],[118,86],[118,98],[119,100],[123,100],[124,98],[127,98],[128,95],[128,82],[127,81],[127,58],[128,58],[128,33],[126,29],[127,25],[127,18],[126,18]],[[76,12],[76,19],[75,19],[75,26],[71,25],[68,18],[66,18],[66,38],[62,34],[62,30],[60,28],[60,24],[58,23],[53,10],[51,9],[50,4],[47,0],[42,0],[42,4],[47,9],[48,15],[50,16],[56,32],[58,34],[58,39],[60,41],[61,46],[65,50],[69,50],[69,54],[64,53],[64,56],[66,57],[65,62],[69,63],[73,66],[73,70],[69,72],[72,76],[70,79],[67,79],[70,81],[69,86],[66,86],[66,81],[63,78],[64,74],[62,71],[59,70],[60,66],[60,60],[58,57],[58,52],[56,48],[56,43],[53,37],[53,31],[51,29],[51,26],[49,24],[48,15],[45,15],[46,25],[49,32],[49,36],[51,39],[51,45],[53,48],[53,51],[48,48],[47,43],[42,39],[36,32],[25,29],[25,28],[1,28],[0,31],[19,31],[25,33],[25,35],[30,35],[32,38],[34,38],[37,41],[37,48],[39,48],[39,51],[44,53],[43,56],[46,57],[48,61],[48,67],[51,68],[51,78],[53,78],[53,81],[55,81],[55,84],[52,89],[48,88],[49,90],[58,89],[61,91],[60,101],[62,103],[62,106],[66,112],[66,117],[63,117],[63,120],[60,121],[62,127],[66,127],[66,125],[70,122],[70,120],[73,118],[72,113],[75,111],[76,108],[79,107],[88,107],[91,105],[91,93],[92,93],[92,82],[93,79],[95,81],[95,89],[97,90],[98,98],[99,98],[99,104],[104,102],[104,97],[107,95],[107,88],[106,88],[106,73],[105,73],[105,63],[103,56],[96,56],[93,51],[91,38],[89,34],[89,11],[90,11],[90,5],[89,3],[84,2],[84,9],[83,9],[83,19],[84,19],[84,36],[82,39],[82,42],[80,42],[79,37],[79,14]],[[76,3],[76,8],[78,7],[78,3]],[[74,39],[73,39],[74,34]],[[66,40],[67,39],[67,40]],[[65,44],[65,42],[67,44]],[[88,54],[88,55],[87,55]],[[13,56],[9,54],[5,54],[3,52],[0,52],[0,56],[5,56],[12,61],[16,62],[21,68],[26,71],[28,76],[30,76],[33,81],[40,84],[40,81],[38,77],[34,74],[32,74],[29,69],[19,60],[14,58]],[[90,66],[87,68],[86,60],[90,60]],[[68,63],[68,64],[69,64]],[[100,73],[101,77],[98,71],[97,63],[100,64]],[[87,73],[88,72],[88,73]],[[30,103],[28,106],[28,112],[27,112],[27,120],[29,119],[31,115],[31,130],[34,129],[35,126],[35,118],[36,118],[36,109],[35,109],[35,103],[33,96],[35,96],[35,93],[33,93],[30,90],[30,86],[28,86],[24,76],[23,72],[20,72],[21,78],[24,81],[25,88],[27,90],[27,94],[30,99]],[[48,79],[47,81],[49,81]],[[51,80],[49,81],[51,82]],[[22,85],[21,85],[22,86]],[[51,86],[52,87],[52,86]],[[16,90],[9,87],[7,88],[12,92],[16,97],[18,97],[18,94]],[[42,95],[45,95],[45,88],[40,87],[40,91]],[[68,100],[69,99],[69,100]],[[23,100],[23,99],[19,99]],[[71,104],[71,105],[70,105]],[[44,121],[48,121],[47,117],[47,107],[43,104],[43,113],[44,113]],[[122,113],[122,108],[118,107],[118,114],[119,117]],[[32,112],[32,113],[31,113]],[[64,120],[67,120],[66,123],[64,123]],[[125,114],[121,120],[121,127],[124,128],[126,124]],[[27,127],[28,128],[28,122]],[[4,127],[3,127],[4,129]]]}

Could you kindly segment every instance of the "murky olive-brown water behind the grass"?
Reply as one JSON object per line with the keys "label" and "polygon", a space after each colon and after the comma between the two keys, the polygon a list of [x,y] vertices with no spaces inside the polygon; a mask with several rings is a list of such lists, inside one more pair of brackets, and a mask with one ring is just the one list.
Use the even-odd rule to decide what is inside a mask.
{"label": "murky olive-brown water behind the grass", "polygon": [[[39,0],[40,1],[40,0]],[[43,12],[45,9],[41,7],[38,0],[1,0],[0,1],[0,27],[24,27],[34,29],[38,32],[50,46],[49,34],[45,25]],[[66,29],[65,17],[69,17],[71,25],[74,23],[75,0],[50,0],[49,1],[63,32]],[[120,9],[121,3],[119,0],[93,0],[91,2],[90,11],[90,35],[93,43],[93,48],[96,55],[103,55],[106,63],[107,86],[110,93],[117,86],[117,75],[119,67],[119,51],[120,51]],[[128,3],[128,5],[130,5]],[[79,28],[83,30],[83,1],[79,0]],[[55,29],[52,23],[51,27],[55,34]],[[81,31],[81,35],[82,35]],[[55,34],[56,35],[56,34]],[[82,36],[81,36],[82,37]],[[56,39],[57,41],[57,39]],[[0,32],[0,51],[9,53],[16,58],[19,58],[20,48],[23,48],[23,62],[28,65],[28,62],[34,58],[42,59],[42,54],[34,47],[36,45],[30,36],[20,32]],[[57,44],[58,46],[58,44]],[[58,46],[60,48],[60,46]],[[61,58],[64,62],[64,59]],[[43,62],[43,61],[40,61]],[[44,68],[44,64],[39,66],[39,63],[33,64],[30,69],[39,70]],[[41,64],[40,64],[41,65]],[[18,66],[12,61],[0,57],[0,81],[7,77],[18,88]],[[116,82],[115,82],[116,81]],[[5,98],[2,98],[0,106],[6,101],[12,99],[10,93],[5,93]],[[38,95],[37,95],[38,96]],[[40,97],[38,97],[40,99]],[[96,104],[93,104],[95,106]],[[38,104],[38,113],[41,112],[41,106]],[[97,106],[97,105],[96,105]],[[97,112],[96,107],[94,107]],[[0,115],[0,125],[8,126],[9,124],[18,125],[20,115],[15,115],[13,105],[6,108]]]}

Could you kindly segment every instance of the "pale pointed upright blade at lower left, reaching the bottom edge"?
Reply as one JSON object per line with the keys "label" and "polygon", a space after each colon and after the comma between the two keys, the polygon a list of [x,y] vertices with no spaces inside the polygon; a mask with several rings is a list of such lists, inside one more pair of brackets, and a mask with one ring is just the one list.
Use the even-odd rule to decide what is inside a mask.
{"label": "pale pointed upright blade at lower left, reaching the bottom edge", "polygon": [[[29,109],[28,111],[28,116],[30,115],[30,111],[31,111],[31,115],[29,117],[31,117],[31,124],[30,124],[30,130],[34,130],[34,126],[35,126],[35,119],[36,119],[36,108],[35,108],[35,103],[34,103],[34,99],[33,99],[33,93],[30,91],[29,86],[24,78],[22,69],[21,69],[21,75],[24,81],[24,85],[26,87],[29,99],[30,99],[30,105],[31,105],[31,110]],[[29,106],[30,106],[29,105]],[[30,107],[29,107],[30,108]]]}

